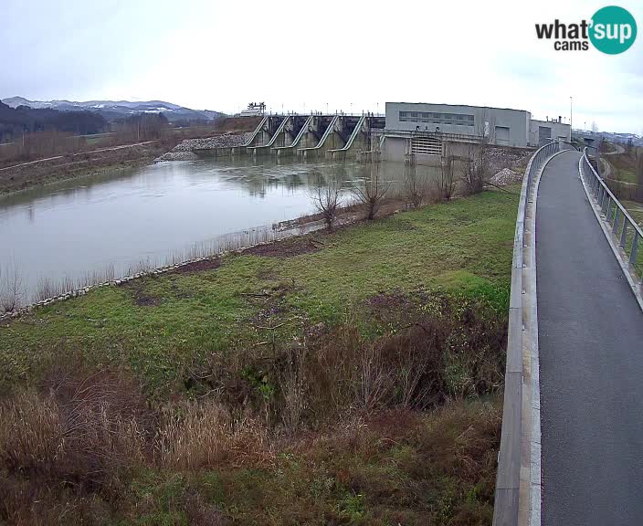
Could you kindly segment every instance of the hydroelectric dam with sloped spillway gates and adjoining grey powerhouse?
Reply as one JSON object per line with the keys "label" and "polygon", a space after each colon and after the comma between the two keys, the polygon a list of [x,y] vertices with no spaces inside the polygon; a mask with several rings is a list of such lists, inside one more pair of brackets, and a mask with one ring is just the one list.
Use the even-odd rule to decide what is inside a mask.
{"label": "hydroelectric dam with sloped spillway gates and adjoining grey powerhouse", "polygon": [[[259,108],[259,110],[257,110]],[[250,105],[248,111],[262,111]],[[467,105],[386,102],[385,116],[373,113],[270,114],[243,144],[194,150],[199,156],[391,161],[439,164],[447,156],[466,156],[484,142],[509,148],[537,148],[552,140],[569,141],[562,117],[532,119],[526,110]]]}

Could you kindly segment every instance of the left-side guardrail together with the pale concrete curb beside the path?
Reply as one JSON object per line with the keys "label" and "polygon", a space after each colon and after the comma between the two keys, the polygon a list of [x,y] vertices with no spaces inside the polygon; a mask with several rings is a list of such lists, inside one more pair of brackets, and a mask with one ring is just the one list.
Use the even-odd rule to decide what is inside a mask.
{"label": "left-side guardrail together with the pale concrete curb beside the path", "polygon": [[[534,331],[532,324],[535,289],[532,280],[533,251],[530,251],[530,247],[535,241],[530,225],[533,225],[535,213],[535,182],[558,149],[559,143],[550,142],[533,153],[522,180],[511,261],[507,361],[493,507],[494,526],[527,526],[532,516],[540,520],[540,384],[538,378],[532,377],[532,370],[537,374],[538,363],[537,358],[532,357],[537,329]],[[542,166],[539,166],[541,163]],[[532,290],[533,294],[530,293]],[[532,392],[535,393],[533,402]],[[534,411],[535,423],[532,423]],[[533,444],[532,429],[536,433]]]}

